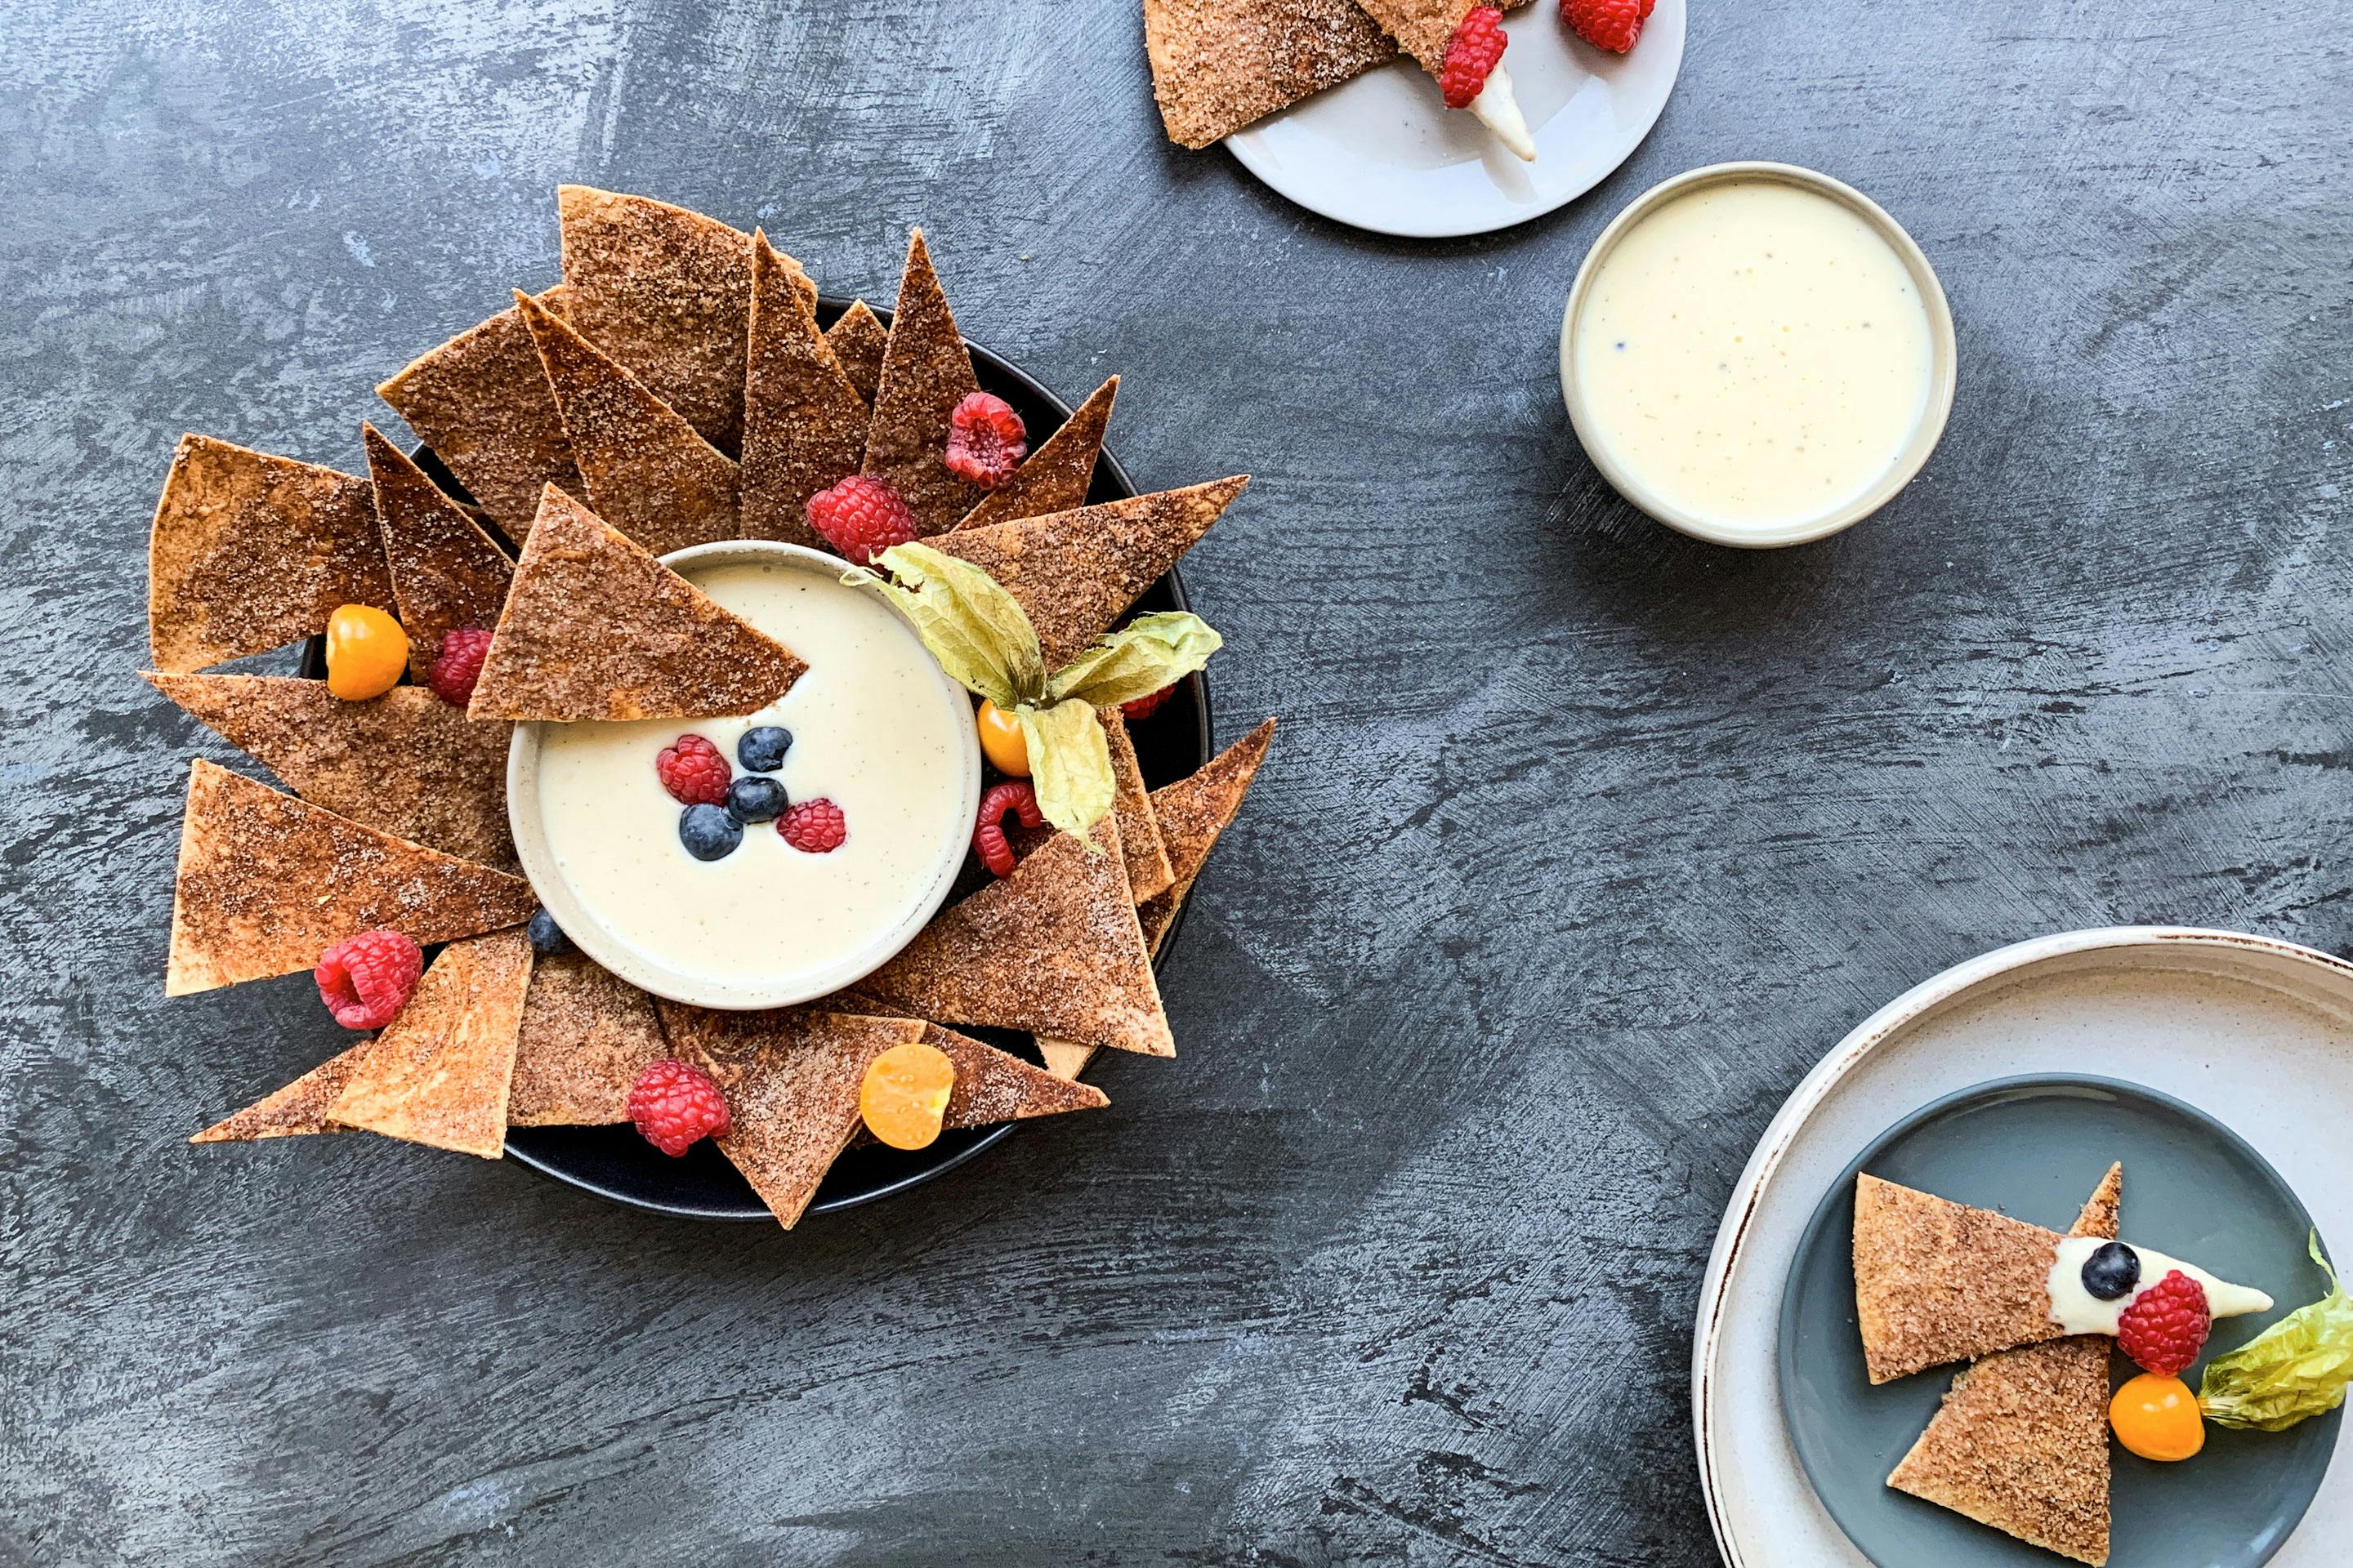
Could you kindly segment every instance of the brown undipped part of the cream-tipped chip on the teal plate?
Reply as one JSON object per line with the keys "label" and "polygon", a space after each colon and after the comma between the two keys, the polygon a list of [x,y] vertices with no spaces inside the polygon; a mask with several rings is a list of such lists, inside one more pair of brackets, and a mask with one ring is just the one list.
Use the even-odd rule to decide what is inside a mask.
{"label": "brown undipped part of the cream-tipped chip on the teal plate", "polygon": [[1854,1178],[1854,1314],[1871,1382],[2059,1338],[2059,1232]]}

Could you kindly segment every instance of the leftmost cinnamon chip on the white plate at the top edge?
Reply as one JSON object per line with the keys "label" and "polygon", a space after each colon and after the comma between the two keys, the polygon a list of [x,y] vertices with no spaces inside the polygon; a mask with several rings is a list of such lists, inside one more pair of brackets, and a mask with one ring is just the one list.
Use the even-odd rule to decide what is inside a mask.
{"label": "leftmost cinnamon chip on the white plate at the top edge", "polygon": [[1144,0],[1144,52],[1169,141],[1212,141],[1398,54],[1355,0]]}

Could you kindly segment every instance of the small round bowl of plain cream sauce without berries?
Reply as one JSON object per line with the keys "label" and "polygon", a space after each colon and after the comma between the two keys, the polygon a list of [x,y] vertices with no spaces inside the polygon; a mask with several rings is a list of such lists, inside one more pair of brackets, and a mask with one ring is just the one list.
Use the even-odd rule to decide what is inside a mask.
{"label": "small round bowl of plain cream sauce without berries", "polygon": [[1720,545],[1802,545],[1913,482],[1953,409],[1953,313],[1904,226],[1826,174],[1692,169],[1586,254],[1560,388],[1626,501]]}

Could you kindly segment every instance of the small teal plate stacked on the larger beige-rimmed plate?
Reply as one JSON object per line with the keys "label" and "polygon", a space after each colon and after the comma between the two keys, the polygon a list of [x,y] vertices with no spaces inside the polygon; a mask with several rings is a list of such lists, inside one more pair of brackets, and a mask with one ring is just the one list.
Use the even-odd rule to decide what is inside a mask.
{"label": "small teal plate stacked on the larger beige-rimmed plate", "polygon": [[[1781,1293],[1781,1415],[1838,1528],[1880,1568],[2049,1566],[2049,1552],[1887,1486],[1958,1368],[1871,1387],[1854,1321],[1854,1175],[2066,1229],[2108,1161],[2125,1161],[2125,1241],[2238,1284],[2278,1307],[2214,1324],[2207,1356],[2235,1349],[2327,1293],[2304,1251],[2311,1218],[2247,1143],[2200,1110],[2115,1079],[2021,1077],[1913,1112],[1821,1199]],[[2186,1375],[2198,1387],[2205,1356]],[[2132,1368],[2115,1361],[2118,1380]],[[2153,1465],[2115,1443],[2111,1568],[2254,1568],[2304,1519],[2344,1410],[2287,1432],[2207,1427],[2205,1453]]]}

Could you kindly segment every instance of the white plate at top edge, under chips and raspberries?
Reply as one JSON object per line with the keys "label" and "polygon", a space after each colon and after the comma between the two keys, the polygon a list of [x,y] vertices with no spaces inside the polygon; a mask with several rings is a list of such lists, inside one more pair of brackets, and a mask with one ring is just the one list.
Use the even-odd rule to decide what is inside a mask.
{"label": "white plate at top edge, under chips and raspberries", "polygon": [[1449,110],[1407,56],[1226,136],[1245,169],[1337,223],[1381,235],[1482,235],[1598,186],[1659,122],[1682,71],[1682,0],[1659,0],[1619,56],[1577,38],[1553,0],[1511,12],[1504,68],[1537,139],[1522,162]]}

